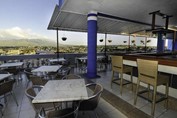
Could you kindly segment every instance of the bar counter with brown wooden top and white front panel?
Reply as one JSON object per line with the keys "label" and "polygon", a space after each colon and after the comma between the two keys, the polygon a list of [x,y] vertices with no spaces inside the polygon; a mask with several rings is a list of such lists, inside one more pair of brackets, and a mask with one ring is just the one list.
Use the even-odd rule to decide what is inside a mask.
{"label": "bar counter with brown wooden top and white front panel", "polygon": [[159,62],[158,71],[169,75],[170,77],[170,87],[177,90],[177,57],[176,55],[170,54],[124,54],[123,63],[125,65],[133,66],[134,75],[137,76],[137,58],[157,60]]}

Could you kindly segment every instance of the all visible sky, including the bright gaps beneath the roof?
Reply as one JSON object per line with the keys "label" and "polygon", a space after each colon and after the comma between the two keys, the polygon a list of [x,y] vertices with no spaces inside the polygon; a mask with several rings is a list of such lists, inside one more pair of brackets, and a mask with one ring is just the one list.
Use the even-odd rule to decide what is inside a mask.
{"label": "all visible sky, including the bright gaps beneath the roof", "polygon": [[[0,0],[0,39],[49,39],[56,41],[56,31],[47,30],[55,5],[58,0]],[[67,37],[62,41],[61,37]],[[104,34],[97,35],[97,44],[104,45],[99,39],[104,39]],[[108,35],[107,45],[128,42],[128,36]],[[119,39],[119,40],[117,40]],[[133,40],[134,37],[131,37]],[[145,38],[140,38],[144,40]],[[138,45],[143,45],[137,40]],[[76,32],[59,32],[59,42],[61,44],[87,45],[87,34]],[[156,44],[156,40],[151,42]]]}

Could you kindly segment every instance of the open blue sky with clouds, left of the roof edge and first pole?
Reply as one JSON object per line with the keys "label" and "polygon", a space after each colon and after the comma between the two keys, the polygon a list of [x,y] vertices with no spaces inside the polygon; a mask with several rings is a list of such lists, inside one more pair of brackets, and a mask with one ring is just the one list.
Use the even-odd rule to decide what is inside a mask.
{"label": "open blue sky with clouds, left of the roof edge and first pole", "polygon": [[55,39],[47,30],[58,0],[0,0],[0,38]]}

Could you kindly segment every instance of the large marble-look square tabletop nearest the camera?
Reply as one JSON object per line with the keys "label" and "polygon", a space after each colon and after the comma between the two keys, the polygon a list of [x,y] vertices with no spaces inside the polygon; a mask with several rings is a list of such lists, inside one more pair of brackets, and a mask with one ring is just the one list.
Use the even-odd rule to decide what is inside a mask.
{"label": "large marble-look square tabletop nearest the camera", "polygon": [[88,99],[84,79],[50,80],[32,103],[66,102]]}

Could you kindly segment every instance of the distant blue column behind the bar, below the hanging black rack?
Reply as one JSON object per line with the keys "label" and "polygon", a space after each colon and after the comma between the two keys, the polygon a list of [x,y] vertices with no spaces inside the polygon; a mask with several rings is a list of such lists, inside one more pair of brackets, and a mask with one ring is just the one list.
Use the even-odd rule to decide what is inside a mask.
{"label": "distant blue column behind the bar, below the hanging black rack", "polygon": [[157,40],[157,52],[163,52],[164,51],[164,40],[163,34],[161,32],[158,33],[158,40]]}

